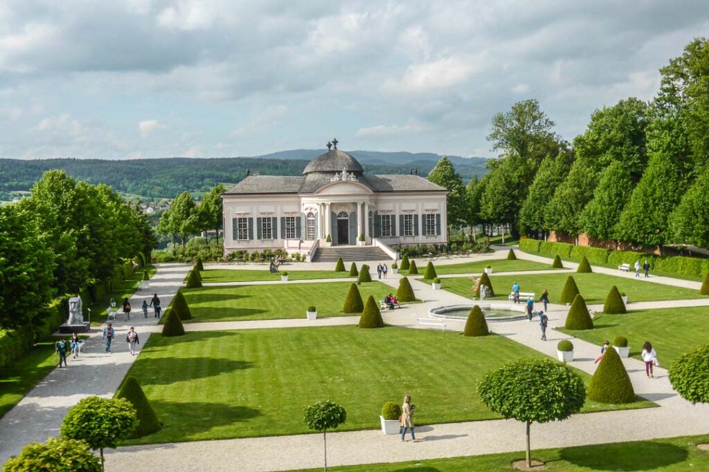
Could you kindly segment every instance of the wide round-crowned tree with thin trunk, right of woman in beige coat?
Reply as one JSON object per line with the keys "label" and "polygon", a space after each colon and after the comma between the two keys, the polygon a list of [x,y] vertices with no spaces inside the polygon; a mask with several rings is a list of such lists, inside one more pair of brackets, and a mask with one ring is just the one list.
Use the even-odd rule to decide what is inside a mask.
{"label": "wide round-crowned tree with thin trunk, right of woman in beige coat", "polygon": [[520,359],[489,372],[478,384],[478,393],[493,412],[525,423],[527,468],[532,466],[530,424],[565,420],[586,401],[581,376],[549,359]]}

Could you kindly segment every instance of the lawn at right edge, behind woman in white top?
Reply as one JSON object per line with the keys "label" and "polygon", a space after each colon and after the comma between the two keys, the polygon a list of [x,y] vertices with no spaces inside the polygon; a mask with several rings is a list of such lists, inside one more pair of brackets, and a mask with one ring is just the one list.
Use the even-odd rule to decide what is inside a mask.
{"label": "lawn at right edge, behind woman in white top", "polygon": [[615,336],[625,336],[630,355],[640,359],[645,341],[652,343],[662,367],[670,367],[683,352],[709,340],[709,307],[630,311],[627,315],[598,315],[593,330],[568,331],[576,338],[603,345]]}

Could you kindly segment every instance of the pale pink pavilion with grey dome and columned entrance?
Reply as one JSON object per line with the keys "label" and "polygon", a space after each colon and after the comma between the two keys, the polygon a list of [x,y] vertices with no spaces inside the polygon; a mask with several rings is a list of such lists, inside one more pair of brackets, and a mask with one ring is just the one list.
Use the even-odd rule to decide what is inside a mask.
{"label": "pale pink pavilion with grey dome and columned entrance", "polygon": [[396,244],[447,241],[447,193],[418,175],[365,175],[333,139],[302,176],[248,175],[223,194],[224,251],[394,258]]}

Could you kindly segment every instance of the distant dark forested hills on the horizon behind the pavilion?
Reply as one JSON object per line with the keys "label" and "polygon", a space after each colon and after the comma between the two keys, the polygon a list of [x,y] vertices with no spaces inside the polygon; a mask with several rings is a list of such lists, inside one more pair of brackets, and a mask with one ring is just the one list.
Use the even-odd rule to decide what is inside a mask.
{"label": "distant dark forested hills on the horizon behind the pavilion", "polygon": [[[360,159],[359,153],[362,153],[361,163],[367,173],[409,173],[412,168],[418,168],[418,173],[425,176],[437,161],[435,154],[353,151],[352,155]],[[289,156],[277,159],[279,154]],[[172,198],[184,190],[206,192],[217,183],[237,183],[244,178],[247,169],[264,175],[301,175],[308,161],[318,154],[322,154],[322,150],[223,159],[0,159],[0,200],[11,200],[12,191],[30,190],[42,173],[50,169],[63,169],[68,175],[89,183],[106,183],[123,193]],[[291,156],[301,156],[301,159]],[[484,159],[455,156],[451,159],[466,181],[474,174],[480,176],[487,171]]]}

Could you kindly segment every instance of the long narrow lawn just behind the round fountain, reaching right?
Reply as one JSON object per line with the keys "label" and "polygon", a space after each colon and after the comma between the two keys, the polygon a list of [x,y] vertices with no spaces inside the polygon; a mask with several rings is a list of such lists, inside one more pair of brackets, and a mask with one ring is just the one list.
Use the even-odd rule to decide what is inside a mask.
{"label": "long narrow lawn just behind the round fountain, reaching right", "polygon": [[[644,280],[627,279],[625,277],[615,277],[615,275],[605,274],[538,274],[538,275],[493,275],[490,277],[492,287],[495,290],[496,299],[507,299],[512,291],[512,284],[518,282],[521,292],[535,292],[539,299],[544,289],[549,290],[549,301],[559,303],[559,295],[562,293],[566,278],[572,275],[576,280],[581,295],[587,304],[602,304],[606,295],[613,285],[618,286],[621,292],[625,292],[628,301],[652,301],[652,300],[680,300],[703,298],[698,290],[671,287],[669,285],[655,284]],[[471,297],[471,281],[466,277],[444,279],[441,288],[462,295]]]}

